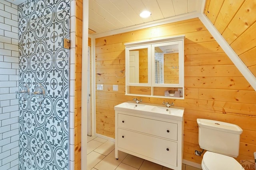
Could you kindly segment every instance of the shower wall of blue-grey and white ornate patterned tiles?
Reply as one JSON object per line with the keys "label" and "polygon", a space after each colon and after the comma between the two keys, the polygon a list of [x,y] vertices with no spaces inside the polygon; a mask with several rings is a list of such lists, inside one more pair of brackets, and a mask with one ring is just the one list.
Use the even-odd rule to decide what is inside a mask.
{"label": "shower wall of blue-grey and white ornate patterned tiles", "polygon": [[62,170],[69,162],[70,0],[28,0],[18,6],[19,88],[46,98],[21,97],[19,169]]}

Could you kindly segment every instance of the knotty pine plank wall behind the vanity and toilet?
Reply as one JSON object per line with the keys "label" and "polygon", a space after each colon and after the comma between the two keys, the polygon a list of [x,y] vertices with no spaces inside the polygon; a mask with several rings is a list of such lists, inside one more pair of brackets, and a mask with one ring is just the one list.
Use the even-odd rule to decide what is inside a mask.
{"label": "knotty pine plank wall behind the vanity and toilet", "polygon": [[[219,11],[220,8],[221,6]],[[185,35],[185,99],[168,100],[166,98],[141,97],[143,102],[162,104],[163,101],[168,101],[174,102],[177,107],[185,108],[184,159],[199,164],[202,161],[202,156],[194,154],[194,150],[199,150],[197,118],[214,119],[239,125],[245,132],[241,136],[241,145],[250,145],[241,147],[247,151],[241,151],[237,160],[253,159],[252,153],[256,150],[253,139],[256,133],[256,92],[199,19],[96,39],[96,84],[104,85],[104,90],[96,90],[96,132],[114,138],[114,106],[131,101],[134,97],[140,98],[125,96],[125,78],[116,77],[116,73],[125,67],[124,43],[172,35]],[[250,59],[246,60],[250,61]],[[122,87],[121,91],[113,91],[112,84]],[[130,88],[144,93],[150,91],[147,90],[147,87]],[[156,88],[155,90],[158,94],[162,94],[165,89]],[[252,132],[252,137],[250,137],[250,132]]]}

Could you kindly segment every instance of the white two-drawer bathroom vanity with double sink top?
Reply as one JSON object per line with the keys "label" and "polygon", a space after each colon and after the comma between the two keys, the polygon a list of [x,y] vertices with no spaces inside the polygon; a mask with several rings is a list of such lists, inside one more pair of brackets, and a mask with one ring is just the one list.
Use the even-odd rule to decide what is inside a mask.
{"label": "white two-drawer bathroom vanity with double sink top", "polygon": [[118,150],[174,170],[182,169],[181,107],[124,102],[115,109],[115,157]]}

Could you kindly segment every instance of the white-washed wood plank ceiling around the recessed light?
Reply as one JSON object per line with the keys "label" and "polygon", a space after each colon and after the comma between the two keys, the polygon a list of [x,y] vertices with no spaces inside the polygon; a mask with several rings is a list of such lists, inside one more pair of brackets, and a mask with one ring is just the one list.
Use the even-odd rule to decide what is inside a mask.
{"label": "white-washed wood plank ceiling around the recessed light", "polygon": [[[89,0],[90,34],[200,13],[202,0]],[[204,4],[203,4],[204,5]],[[149,10],[149,18],[140,13]]]}

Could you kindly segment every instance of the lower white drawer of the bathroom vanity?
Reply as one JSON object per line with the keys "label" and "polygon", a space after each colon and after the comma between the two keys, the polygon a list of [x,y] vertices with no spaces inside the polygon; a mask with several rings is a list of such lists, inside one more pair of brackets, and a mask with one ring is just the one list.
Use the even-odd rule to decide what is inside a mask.
{"label": "lower white drawer of the bathroom vanity", "polygon": [[177,166],[177,143],[118,128],[118,147]]}

